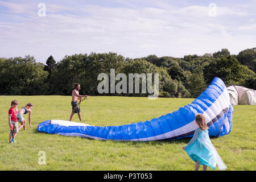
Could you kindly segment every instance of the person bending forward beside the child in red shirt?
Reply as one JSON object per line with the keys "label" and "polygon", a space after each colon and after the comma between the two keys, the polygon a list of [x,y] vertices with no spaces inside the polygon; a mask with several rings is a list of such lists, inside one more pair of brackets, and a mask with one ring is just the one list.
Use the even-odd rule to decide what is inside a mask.
{"label": "person bending forward beside the child in red shirt", "polygon": [[17,119],[18,119],[18,122],[20,122],[20,127],[19,127],[19,130],[23,127],[24,130],[26,130],[26,119],[23,118],[23,114],[27,114],[28,113],[28,122],[30,123],[30,128],[32,128],[31,126],[31,109],[33,107],[33,104],[32,103],[27,103],[26,106],[20,108],[18,110],[18,113],[17,113]]}

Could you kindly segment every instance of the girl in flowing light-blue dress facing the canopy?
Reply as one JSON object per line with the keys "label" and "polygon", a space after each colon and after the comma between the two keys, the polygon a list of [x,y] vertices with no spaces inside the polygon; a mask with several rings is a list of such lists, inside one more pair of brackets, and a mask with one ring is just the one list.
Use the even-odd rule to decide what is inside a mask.
{"label": "girl in flowing light-blue dress facing the canopy", "polygon": [[195,130],[193,138],[187,146],[183,147],[188,156],[196,162],[195,171],[198,171],[199,165],[203,165],[204,171],[207,170],[207,166],[215,169],[216,165],[220,170],[225,170],[225,164],[222,162],[212,142],[210,142],[208,126],[203,114],[196,114],[196,124],[199,128]]}

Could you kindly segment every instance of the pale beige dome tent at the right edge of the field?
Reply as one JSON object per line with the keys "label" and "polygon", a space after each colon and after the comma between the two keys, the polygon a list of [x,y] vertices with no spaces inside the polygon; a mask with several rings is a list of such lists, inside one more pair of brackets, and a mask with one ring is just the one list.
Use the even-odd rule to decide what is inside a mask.
{"label": "pale beige dome tent at the right edge of the field", "polygon": [[237,85],[228,86],[227,89],[229,92],[229,98],[232,105],[256,105],[255,90]]}

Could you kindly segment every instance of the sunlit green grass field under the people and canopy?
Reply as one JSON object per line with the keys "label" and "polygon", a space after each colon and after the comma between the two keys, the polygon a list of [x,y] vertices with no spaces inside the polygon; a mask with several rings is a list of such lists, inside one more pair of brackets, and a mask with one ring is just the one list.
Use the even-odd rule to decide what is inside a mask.
{"label": "sunlit green grass field under the people and canopy", "polygon": [[[20,107],[32,102],[32,129],[19,131],[9,144],[8,110],[12,100]],[[89,97],[81,104],[82,119],[89,125],[118,126],[146,121],[191,103],[191,98]],[[182,150],[190,138],[115,142],[40,133],[38,123],[69,120],[71,96],[0,96],[0,170],[194,170],[195,163]],[[28,123],[28,114],[24,115]],[[73,121],[79,122],[77,114]],[[229,135],[212,138],[226,170],[256,169],[256,105],[234,106]],[[46,164],[38,163],[39,151]],[[202,167],[200,167],[200,170]],[[212,170],[208,167],[208,170]],[[218,168],[216,168],[218,170]]]}

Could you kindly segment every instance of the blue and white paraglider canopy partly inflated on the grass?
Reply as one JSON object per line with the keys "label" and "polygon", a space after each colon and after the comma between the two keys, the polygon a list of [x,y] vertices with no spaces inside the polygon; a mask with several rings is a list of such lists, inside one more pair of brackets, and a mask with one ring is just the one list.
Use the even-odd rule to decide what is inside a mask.
{"label": "blue and white paraglider canopy partly inflated on the grass", "polygon": [[60,120],[47,120],[38,125],[38,131],[65,136],[88,137],[100,140],[148,141],[192,137],[197,129],[195,114],[203,113],[210,136],[229,134],[233,107],[226,85],[214,78],[199,97],[179,110],[150,121],[121,126],[90,126]]}

